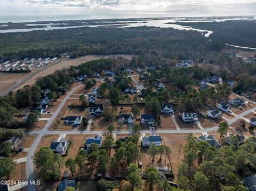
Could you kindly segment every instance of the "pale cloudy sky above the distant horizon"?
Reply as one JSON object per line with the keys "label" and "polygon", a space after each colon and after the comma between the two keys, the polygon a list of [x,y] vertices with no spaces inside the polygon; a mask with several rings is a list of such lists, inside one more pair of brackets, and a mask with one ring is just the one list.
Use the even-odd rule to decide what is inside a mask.
{"label": "pale cloudy sky above the distant horizon", "polygon": [[0,19],[10,15],[158,14],[164,17],[255,13],[256,0],[0,0]]}

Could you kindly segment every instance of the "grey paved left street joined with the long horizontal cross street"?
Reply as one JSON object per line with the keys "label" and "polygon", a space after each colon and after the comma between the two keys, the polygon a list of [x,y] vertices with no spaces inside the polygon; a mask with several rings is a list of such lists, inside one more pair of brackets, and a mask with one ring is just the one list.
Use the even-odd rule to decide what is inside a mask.
{"label": "grey paved left street joined with the long horizontal cross street", "polygon": [[[51,135],[59,135],[59,134],[72,134],[72,135],[95,135],[95,134],[102,134],[102,131],[90,131],[90,130],[85,130],[85,131],[51,131],[48,128],[51,126],[53,120],[57,117],[57,115],[59,114],[60,110],[62,109],[62,107],[65,105],[65,103],[67,102],[69,96],[71,94],[73,94],[75,92],[76,89],[78,89],[79,87],[81,87],[83,85],[78,85],[77,87],[73,88],[72,90],[70,90],[70,92],[67,94],[67,96],[63,99],[63,101],[61,102],[61,104],[58,106],[57,110],[53,113],[52,117],[50,118],[50,120],[45,124],[44,128],[41,130],[35,130],[35,131],[29,131],[27,132],[27,134],[38,134],[38,136],[36,137],[36,139],[34,140],[34,143],[31,145],[30,149],[28,150],[28,154],[27,154],[27,161],[26,161],[26,173],[27,173],[27,181],[32,181],[35,180],[34,177],[34,164],[33,164],[33,157],[34,157],[34,153],[36,150],[36,146],[39,144],[41,138],[44,135],[47,134],[51,134]],[[256,104],[255,102],[253,102],[254,104]],[[244,115],[249,114],[253,111],[256,110],[256,106],[246,110],[244,112],[242,112],[241,114],[236,115],[234,118],[227,120],[228,124],[234,123],[236,120],[238,120],[239,118],[242,118]],[[218,126],[214,126],[211,128],[207,128],[207,129],[177,129],[177,130],[142,130],[141,134],[187,134],[189,132],[191,133],[198,133],[198,132],[209,132],[209,131],[214,131],[217,130]],[[129,130],[124,130],[124,131],[114,131],[113,134],[131,134],[131,131]],[[36,190],[35,185],[30,185],[28,184],[27,186],[28,190],[30,191],[34,191]]]}

